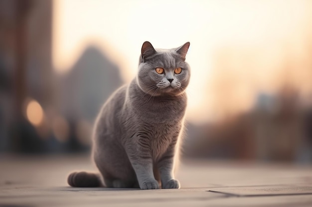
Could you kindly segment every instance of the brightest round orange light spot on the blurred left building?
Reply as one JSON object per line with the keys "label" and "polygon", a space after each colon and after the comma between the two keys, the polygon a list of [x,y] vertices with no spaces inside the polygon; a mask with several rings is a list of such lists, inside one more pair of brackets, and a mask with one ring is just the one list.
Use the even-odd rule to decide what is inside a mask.
{"label": "brightest round orange light spot on the blurred left building", "polygon": [[43,122],[43,110],[40,104],[36,100],[29,100],[26,107],[26,117],[28,121],[38,127]]}

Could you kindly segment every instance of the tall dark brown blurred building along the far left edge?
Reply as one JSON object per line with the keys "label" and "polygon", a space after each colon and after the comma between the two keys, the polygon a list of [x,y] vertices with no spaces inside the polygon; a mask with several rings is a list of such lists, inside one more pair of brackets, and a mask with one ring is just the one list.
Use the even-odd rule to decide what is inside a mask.
{"label": "tall dark brown blurred building along the far left edge", "polygon": [[2,0],[0,20],[0,71],[6,83],[0,99],[1,149],[44,151],[41,136],[26,120],[26,107],[30,99],[43,108],[54,101],[52,1]]}

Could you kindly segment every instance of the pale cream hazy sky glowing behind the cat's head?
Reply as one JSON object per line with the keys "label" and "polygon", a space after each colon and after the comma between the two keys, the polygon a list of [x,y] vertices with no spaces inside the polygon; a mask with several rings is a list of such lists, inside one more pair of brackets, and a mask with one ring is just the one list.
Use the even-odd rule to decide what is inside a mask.
{"label": "pale cream hazy sky glowing behind the cat's head", "polygon": [[[309,0],[54,0],[53,3],[53,64],[58,72],[70,69],[92,44],[122,69],[125,82],[129,82],[137,72],[144,41],[150,41],[156,48],[174,48],[189,41],[186,60],[192,75],[187,115],[194,122],[218,117],[215,109],[220,103],[233,110],[248,110],[257,91],[274,90],[273,83],[277,81],[274,75],[279,75],[278,68],[287,55],[298,56],[294,59],[297,62],[304,61],[306,27],[311,23]],[[285,49],[291,52],[286,54]],[[227,90],[237,93],[235,97],[216,101],[222,91],[214,87],[215,78],[220,74],[223,77],[227,71],[218,71],[222,67],[228,67],[231,73],[241,73],[241,77],[246,71],[250,74],[247,72],[237,80],[238,89],[235,86],[235,90]]]}

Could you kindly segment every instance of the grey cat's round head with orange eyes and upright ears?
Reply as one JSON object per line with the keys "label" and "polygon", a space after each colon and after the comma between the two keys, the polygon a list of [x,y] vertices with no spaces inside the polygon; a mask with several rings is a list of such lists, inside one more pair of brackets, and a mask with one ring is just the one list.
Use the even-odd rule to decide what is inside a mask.
{"label": "grey cat's round head with orange eyes and upright ears", "polygon": [[179,95],[188,85],[190,68],[185,62],[189,42],[174,49],[154,49],[144,42],[139,61],[137,82],[152,96]]}

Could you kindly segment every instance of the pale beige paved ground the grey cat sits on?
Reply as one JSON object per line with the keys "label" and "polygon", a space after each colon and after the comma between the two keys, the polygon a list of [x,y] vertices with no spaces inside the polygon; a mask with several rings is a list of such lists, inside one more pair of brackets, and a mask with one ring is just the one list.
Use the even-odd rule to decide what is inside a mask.
{"label": "pale beige paved ground the grey cat sits on", "polygon": [[312,165],[185,160],[181,189],[71,188],[88,155],[0,155],[0,207],[312,207]]}

